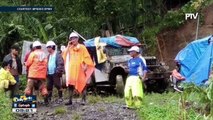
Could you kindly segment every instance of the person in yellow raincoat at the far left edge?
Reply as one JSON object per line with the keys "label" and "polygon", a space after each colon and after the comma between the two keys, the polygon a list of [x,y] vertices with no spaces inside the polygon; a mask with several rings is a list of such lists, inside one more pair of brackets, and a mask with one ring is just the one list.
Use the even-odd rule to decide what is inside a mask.
{"label": "person in yellow raincoat at the far left edge", "polygon": [[2,68],[0,69],[0,91],[10,90],[15,84],[16,80],[10,73],[10,64],[3,62]]}

